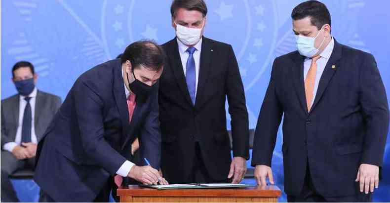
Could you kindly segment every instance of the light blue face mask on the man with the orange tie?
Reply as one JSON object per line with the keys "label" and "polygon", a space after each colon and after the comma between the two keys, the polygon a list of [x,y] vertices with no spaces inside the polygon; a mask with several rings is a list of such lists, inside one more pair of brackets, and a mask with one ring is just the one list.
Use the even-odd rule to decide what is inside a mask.
{"label": "light blue face mask on the man with the orange tie", "polygon": [[314,42],[315,42],[315,39],[318,37],[319,33],[321,33],[322,28],[321,28],[321,30],[319,30],[317,36],[315,36],[314,38],[313,37],[305,37],[305,36],[301,36],[301,35],[295,36],[297,48],[298,48],[298,51],[301,55],[306,56],[308,58],[312,58],[313,56],[315,56],[315,54],[318,53],[319,48],[322,46],[322,44],[325,41],[325,37],[322,40],[322,42],[318,48],[315,48]]}

